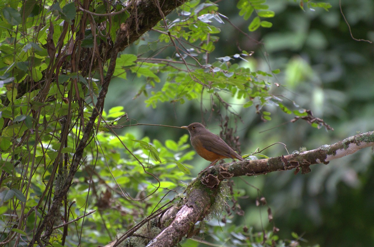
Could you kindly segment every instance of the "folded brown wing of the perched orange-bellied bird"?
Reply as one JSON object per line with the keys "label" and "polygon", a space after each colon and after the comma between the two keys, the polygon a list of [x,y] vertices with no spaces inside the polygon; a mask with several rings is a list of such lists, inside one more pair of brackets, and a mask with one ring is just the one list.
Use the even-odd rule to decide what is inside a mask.
{"label": "folded brown wing of the perched orange-bellied bird", "polygon": [[224,140],[218,135],[211,132],[199,135],[199,139],[206,150],[212,151],[216,154],[225,156],[227,158],[236,158],[239,160],[243,159],[239,154],[237,154],[229,145],[227,145]]}

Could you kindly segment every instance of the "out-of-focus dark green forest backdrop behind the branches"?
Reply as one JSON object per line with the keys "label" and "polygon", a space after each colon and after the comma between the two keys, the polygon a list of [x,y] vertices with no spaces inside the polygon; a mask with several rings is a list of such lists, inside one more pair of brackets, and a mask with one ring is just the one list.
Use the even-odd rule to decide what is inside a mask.
{"label": "out-of-focus dark green forest backdrop behind the branches", "polygon": [[[315,149],[360,132],[373,131],[374,45],[353,40],[340,12],[339,1],[328,2],[332,8],[327,12],[306,6],[303,11],[295,1],[268,1],[269,9],[276,13],[275,18],[270,20],[273,27],[260,28],[249,34],[260,43],[241,34],[227,21],[219,26],[222,30],[220,41],[210,56],[211,60],[239,53],[240,49],[254,51],[248,63],[242,62],[243,66],[263,71],[281,69],[280,74],[267,78],[280,84],[272,87],[272,94],[283,99],[290,108],[300,106],[311,109],[315,117],[324,119],[334,128],[334,131],[316,129],[302,120],[290,123],[292,116],[272,105],[266,106],[266,110],[272,113],[272,121],[263,122],[255,107],[243,108],[240,104],[244,102],[230,101],[233,105],[237,104],[234,108],[242,118],[237,122],[242,155],[281,142],[287,149],[277,144],[263,152],[269,157],[279,156],[301,147]],[[350,0],[341,4],[353,37],[374,41],[373,0]],[[250,20],[244,21],[238,15],[232,1],[221,1],[219,6],[220,13],[249,33]],[[149,32],[147,35],[151,38],[153,34]],[[136,52],[141,42],[129,49]],[[124,106],[129,118],[133,119],[132,124],[181,126],[202,122],[203,117],[208,128],[219,133],[219,118],[211,110],[209,98],[203,99],[203,112],[200,110],[200,99],[182,105],[166,102],[159,103],[156,109],[145,108],[142,103],[146,99],[144,95],[134,98],[145,82],[134,76],[128,78],[132,81],[130,84],[120,78],[113,79],[105,101],[106,109]],[[162,142],[178,140],[186,134],[182,129],[152,126],[134,126],[121,131],[131,132],[137,138],[149,136],[151,140],[156,138]],[[198,156],[190,163],[195,166],[194,174],[208,165]],[[281,238],[289,238],[291,232],[297,232],[308,241],[307,245],[373,246],[373,165],[373,151],[366,148],[333,160],[328,165],[314,165],[307,175],[294,175],[294,171],[273,172],[244,179],[259,188],[262,196],[266,197]],[[239,200],[239,204],[246,213],[243,217],[232,219],[232,224],[254,226],[257,230],[261,230],[261,224],[264,224],[271,230],[272,224],[266,226],[266,209],[259,213],[258,207],[255,207],[257,190],[238,178],[234,182],[236,189],[245,191],[246,196]]]}

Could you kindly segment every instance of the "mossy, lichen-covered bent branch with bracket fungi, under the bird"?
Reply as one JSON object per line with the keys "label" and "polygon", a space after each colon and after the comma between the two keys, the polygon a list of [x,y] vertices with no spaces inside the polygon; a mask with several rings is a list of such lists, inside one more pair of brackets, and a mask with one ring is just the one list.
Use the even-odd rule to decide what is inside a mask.
{"label": "mossy, lichen-covered bent branch with bracket fungi, under the bird", "polygon": [[[250,160],[225,163],[209,168],[205,173],[196,178],[188,187],[187,196],[183,199],[183,206],[173,207],[159,217],[160,225],[172,222],[163,229],[147,247],[174,246],[184,236],[191,236],[194,224],[201,221],[221,193],[220,181],[233,176],[252,176],[274,171],[301,169],[302,173],[310,172],[310,165],[325,163],[330,160],[355,153],[361,148],[374,146],[374,131],[346,138],[332,145],[324,145],[315,150],[294,153],[270,159]],[[208,174],[208,175],[206,175]],[[203,185],[204,184],[204,185]],[[165,218],[167,215],[168,219]],[[128,244],[131,246],[131,244]]]}

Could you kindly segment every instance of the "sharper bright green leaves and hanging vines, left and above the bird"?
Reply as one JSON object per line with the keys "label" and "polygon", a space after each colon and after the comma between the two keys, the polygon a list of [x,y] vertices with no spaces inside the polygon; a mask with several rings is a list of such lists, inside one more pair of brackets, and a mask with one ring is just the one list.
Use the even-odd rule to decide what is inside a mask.
{"label": "sharper bright green leaves and hanging vines, left and above the bird", "polygon": [[[305,3],[309,8],[331,7],[300,1],[302,9]],[[265,0],[240,0],[237,9],[244,20],[251,19],[251,32],[273,26],[266,20],[275,12]],[[117,229],[130,229],[134,222],[178,199],[190,181],[188,163],[194,152],[188,151],[187,134],[177,141],[139,137],[132,133],[134,126],[119,123],[126,109],[114,106],[105,111],[95,106],[110,66],[105,61],[117,30],[131,17],[129,11],[120,2],[110,6],[92,1],[83,7],[68,1],[1,1],[2,244],[31,243],[35,226],[74,172],[73,185],[64,193],[52,226],[77,221],[53,228],[43,239],[50,246],[108,243]],[[211,57],[220,40],[220,26],[229,20],[217,4],[194,0],[177,13],[177,18],[168,16],[153,27],[152,34],[144,35],[133,54],[125,50],[116,60],[116,79],[130,84],[134,75],[142,80],[136,97],[145,96],[146,106],[157,110],[163,102],[183,104],[209,96],[212,104],[220,102],[229,113],[235,107],[226,98],[244,108],[255,106],[264,121],[272,119],[266,106],[276,106],[295,118],[309,116],[296,103],[286,106],[271,93],[272,79],[280,70],[250,69],[251,51]],[[85,126],[95,111],[100,117],[93,119],[95,127],[79,169],[71,172]],[[118,134],[117,128],[125,133]],[[97,211],[88,215],[93,209]],[[74,231],[77,234],[70,234]],[[257,235],[251,229],[242,234],[233,227],[230,231],[232,244],[278,241],[273,233]]]}

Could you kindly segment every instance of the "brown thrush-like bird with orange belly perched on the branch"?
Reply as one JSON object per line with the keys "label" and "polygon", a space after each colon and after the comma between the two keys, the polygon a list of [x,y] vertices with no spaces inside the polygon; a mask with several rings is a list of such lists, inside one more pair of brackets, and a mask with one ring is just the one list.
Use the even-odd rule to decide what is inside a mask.
{"label": "brown thrush-like bird with orange belly perched on the branch", "polygon": [[232,158],[245,160],[227,145],[221,137],[210,132],[204,125],[192,123],[188,126],[181,126],[181,128],[187,129],[190,133],[191,145],[196,150],[197,154],[212,162],[206,168],[214,165],[221,159]]}

